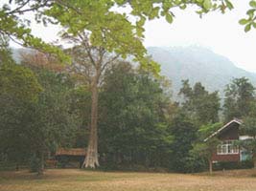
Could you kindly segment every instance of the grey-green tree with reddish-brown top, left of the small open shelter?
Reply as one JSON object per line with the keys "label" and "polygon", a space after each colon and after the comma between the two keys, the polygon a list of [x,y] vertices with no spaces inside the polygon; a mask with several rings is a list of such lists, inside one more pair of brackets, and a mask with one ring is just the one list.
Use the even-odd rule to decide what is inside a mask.
{"label": "grey-green tree with reddish-brown top, left of the small open shelter", "polygon": [[[44,59],[43,59],[44,58]],[[33,70],[43,91],[29,110],[31,152],[40,161],[38,173],[44,169],[44,156],[60,147],[72,145],[78,121],[71,111],[70,93],[74,83],[69,74],[63,73],[51,59],[41,53],[27,53],[22,65]]]}

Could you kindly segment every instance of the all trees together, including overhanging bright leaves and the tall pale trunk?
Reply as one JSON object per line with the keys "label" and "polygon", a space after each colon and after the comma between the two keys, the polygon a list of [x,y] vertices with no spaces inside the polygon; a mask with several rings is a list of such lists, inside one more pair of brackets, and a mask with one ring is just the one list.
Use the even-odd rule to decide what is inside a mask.
{"label": "all trees together, including overhanging bright leaves and the tall pale trunk", "polygon": [[[199,81],[182,81],[179,101],[172,81],[143,45],[147,20],[194,5],[199,16],[232,10],[230,1],[9,1],[0,10],[0,161],[43,172],[49,153],[86,148],[83,168],[199,172],[210,168],[218,138],[204,141],[236,117],[256,160],[255,87],[245,77],[226,85],[224,98]],[[131,11],[112,11],[129,6]],[[244,31],[255,28],[250,1]],[[30,19],[62,27],[53,46],[35,37]],[[135,18],[133,23],[128,16]],[[132,20],[132,19],[131,19]],[[34,51],[12,57],[10,41]],[[237,142],[244,144],[244,142]]]}

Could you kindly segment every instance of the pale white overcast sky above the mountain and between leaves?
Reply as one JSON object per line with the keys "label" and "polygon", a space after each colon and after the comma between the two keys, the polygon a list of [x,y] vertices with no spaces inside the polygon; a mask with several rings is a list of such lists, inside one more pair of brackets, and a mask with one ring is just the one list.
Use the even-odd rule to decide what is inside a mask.
{"label": "pale white overcast sky above the mountain and between leaves", "polygon": [[[234,0],[235,9],[225,14],[210,12],[199,18],[193,8],[175,10],[172,25],[165,19],[146,23],[146,47],[203,46],[229,58],[236,66],[256,73],[256,30],[244,32],[238,21],[248,10],[248,0]],[[32,24],[33,33],[47,42],[57,39],[58,27]],[[12,44],[12,46],[15,46]]]}

